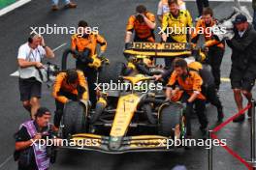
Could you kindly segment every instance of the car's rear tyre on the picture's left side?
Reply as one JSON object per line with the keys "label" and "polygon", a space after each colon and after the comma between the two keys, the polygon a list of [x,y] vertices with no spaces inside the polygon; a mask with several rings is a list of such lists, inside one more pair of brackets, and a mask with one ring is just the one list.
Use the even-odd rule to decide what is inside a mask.
{"label": "car's rear tyre on the picture's left side", "polygon": [[99,72],[98,83],[118,83],[119,76],[123,74],[125,65],[122,62],[112,62],[110,64],[103,65]]}

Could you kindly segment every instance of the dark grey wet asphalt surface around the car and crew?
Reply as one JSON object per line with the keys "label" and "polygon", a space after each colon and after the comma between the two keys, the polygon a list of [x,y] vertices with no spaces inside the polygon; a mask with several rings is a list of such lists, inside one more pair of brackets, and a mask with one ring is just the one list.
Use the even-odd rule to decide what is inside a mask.
{"label": "dark grey wet asphalt surface around the car and crew", "polygon": [[[28,118],[21,107],[17,89],[17,79],[9,74],[16,71],[16,53],[18,46],[25,42],[30,26],[77,26],[80,19],[85,19],[91,26],[98,26],[100,33],[108,41],[108,57],[111,60],[123,61],[122,56],[124,30],[126,20],[139,4],[144,4],[150,12],[156,13],[156,0],[80,0],[76,10],[49,11],[50,4],[45,0],[34,0],[16,11],[0,17],[0,169],[15,170],[16,162],[12,158],[14,151],[13,134],[19,124]],[[231,2],[210,2],[218,18],[230,14]],[[245,4],[249,10],[250,4]],[[197,10],[194,2],[187,2],[187,8],[193,16]],[[69,35],[45,36],[52,48],[69,43]],[[64,45],[55,51],[54,63],[60,64]],[[228,77],[230,71],[230,49],[227,48],[222,64],[222,76]],[[221,85],[221,100],[225,106],[226,118],[236,112],[230,83]],[[42,105],[54,109],[49,89],[44,86]],[[215,126],[216,110],[208,106],[209,128]],[[198,136],[198,122],[193,122],[195,135]],[[226,138],[228,145],[242,157],[249,157],[249,123],[230,124],[218,133]],[[208,168],[208,150],[193,148],[189,151],[177,149],[172,153],[133,153],[123,155],[107,155],[97,152],[80,152],[61,150],[57,162],[51,166],[53,170],[171,170],[176,164],[185,164],[189,170],[206,170]],[[214,149],[214,169],[243,170],[246,169],[233,156],[222,148]]]}

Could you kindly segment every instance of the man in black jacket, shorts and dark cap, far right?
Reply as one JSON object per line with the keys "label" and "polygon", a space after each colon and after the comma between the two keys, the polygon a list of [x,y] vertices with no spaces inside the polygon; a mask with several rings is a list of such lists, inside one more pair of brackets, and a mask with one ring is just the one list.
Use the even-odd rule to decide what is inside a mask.
{"label": "man in black jacket, shorts and dark cap, far right", "polygon": [[[227,44],[232,49],[231,87],[240,111],[243,108],[242,96],[248,102],[252,99],[251,90],[256,79],[256,31],[243,14],[237,15],[233,24],[235,36],[227,40]],[[248,110],[248,117],[251,117],[251,109]],[[233,122],[242,122],[244,118],[244,114],[240,115]]]}

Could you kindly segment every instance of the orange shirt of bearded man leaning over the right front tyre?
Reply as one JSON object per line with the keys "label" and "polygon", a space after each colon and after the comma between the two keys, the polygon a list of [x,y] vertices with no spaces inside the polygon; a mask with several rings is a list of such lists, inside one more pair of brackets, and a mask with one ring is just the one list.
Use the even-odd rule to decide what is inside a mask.
{"label": "orange shirt of bearded man leaning over the right front tyre", "polygon": [[203,79],[196,71],[189,71],[188,76],[183,80],[174,71],[169,78],[168,86],[174,86],[178,84],[188,95],[192,95],[194,92],[199,93],[198,99],[206,99],[206,97],[201,93]]}

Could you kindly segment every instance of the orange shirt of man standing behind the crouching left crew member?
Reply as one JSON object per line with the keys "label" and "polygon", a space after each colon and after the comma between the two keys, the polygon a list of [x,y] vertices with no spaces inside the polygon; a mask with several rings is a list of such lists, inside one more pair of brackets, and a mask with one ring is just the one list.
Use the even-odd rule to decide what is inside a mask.
{"label": "orange shirt of man standing behind the crouching left crew member", "polygon": [[97,44],[101,45],[101,51],[107,48],[106,40],[99,34],[90,34],[88,38],[82,38],[80,35],[75,34],[71,38],[71,49],[82,52],[84,48],[90,49],[90,56],[96,54]]}

